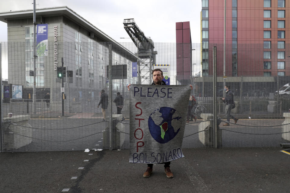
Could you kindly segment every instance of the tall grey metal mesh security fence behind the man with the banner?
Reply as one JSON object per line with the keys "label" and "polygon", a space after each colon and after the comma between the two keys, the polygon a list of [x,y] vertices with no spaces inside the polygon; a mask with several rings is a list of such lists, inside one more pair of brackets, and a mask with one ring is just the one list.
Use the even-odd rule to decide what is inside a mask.
{"label": "tall grey metal mesh security fence behind the man with the banner", "polygon": [[[182,147],[289,143],[289,47],[226,45],[224,76],[223,45],[217,44],[154,43],[148,53],[134,43],[48,42],[47,54],[37,55],[34,65],[30,40],[1,43],[1,67],[7,68],[1,84],[1,151],[129,148],[127,85],[151,84],[153,68],[168,70],[171,85],[193,86],[197,105],[184,109],[188,122]],[[231,114],[238,118],[229,126],[224,126],[227,117],[220,99],[224,81],[234,94]],[[198,112],[198,106],[206,110]]]}

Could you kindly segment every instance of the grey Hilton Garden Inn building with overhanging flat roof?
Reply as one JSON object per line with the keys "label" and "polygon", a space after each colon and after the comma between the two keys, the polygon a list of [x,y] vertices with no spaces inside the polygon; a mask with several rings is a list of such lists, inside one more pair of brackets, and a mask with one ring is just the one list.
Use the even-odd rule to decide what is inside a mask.
{"label": "grey Hilton Garden Inn building with overhanging flat roof", "polygon": [[[33,10],[3,12],[0,13],[0,21],[7,23],[8,29],[8,83],[22,85],[24,89],[32,88]],[[37,47],[35,84],[36,88],[49,90],[51,103],[60,99],[62,84],[56,70],[62,65],[62,59],[67,71],[72,72],[64,83],[65,105],[69,106],[70,111],[81,111],[83,103],[98,101],[99,92],[109,85],[106,70],[109,62],[112,65],[127,65],[128,71],[128,79],[118,72],[122,76],[112,80],[113,91],[127,89],[124,79],[129,83],[137,81],[137,77],[131,76],[132,62],[137,62],[137,56],[70,8],[37,9],[36,23],[47,25],[44,27],[47,30],[47,45],[44,48],[46,53],[42,55],[38,54]],[[72,102],[76,104],[76,110]]]}

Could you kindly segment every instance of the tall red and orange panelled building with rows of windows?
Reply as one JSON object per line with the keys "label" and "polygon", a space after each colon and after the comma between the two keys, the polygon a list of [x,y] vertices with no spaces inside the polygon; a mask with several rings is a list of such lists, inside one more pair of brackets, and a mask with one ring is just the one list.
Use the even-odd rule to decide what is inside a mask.
{"label": "tall red and orange panelled building with rows of windows", "polygon": [[[289,76],[289,8],[285,0],[227,0],[226,76]],[[202,0],[202,74],[224,70],[224,0]]]}

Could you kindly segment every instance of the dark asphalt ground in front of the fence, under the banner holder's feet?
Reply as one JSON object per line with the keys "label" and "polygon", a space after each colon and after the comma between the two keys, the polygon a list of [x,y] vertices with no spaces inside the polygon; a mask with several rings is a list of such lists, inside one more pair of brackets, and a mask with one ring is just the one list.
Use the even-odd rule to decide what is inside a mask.
{"label": "dark asphalt ground in front of the fence, under the banner holder's feet", "polygon": [[171,163],[172,179],[162,164],[143,178],[147,166],[129,163],[129,150],[0,153],[0,186],[2,193],[288,193],[290,155],[280,150],[183,149],[185,157]]}

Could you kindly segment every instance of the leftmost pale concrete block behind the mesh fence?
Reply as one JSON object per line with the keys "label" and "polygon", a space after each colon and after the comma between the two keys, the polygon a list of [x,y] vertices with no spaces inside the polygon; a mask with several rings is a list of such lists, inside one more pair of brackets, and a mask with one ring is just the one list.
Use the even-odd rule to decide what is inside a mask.
{"label": "leftmost pale concrete block behind the mesh fence", "polygon": [[4,149],[13,150],[32,142],[32,128],[29,115],[12,115],[3,118]]}

